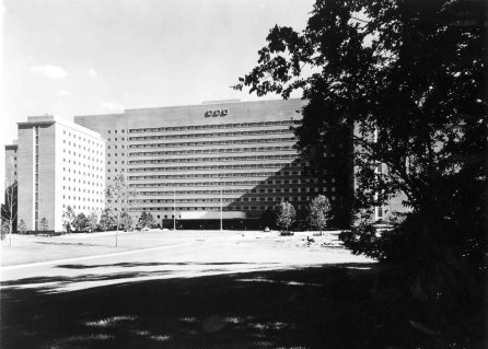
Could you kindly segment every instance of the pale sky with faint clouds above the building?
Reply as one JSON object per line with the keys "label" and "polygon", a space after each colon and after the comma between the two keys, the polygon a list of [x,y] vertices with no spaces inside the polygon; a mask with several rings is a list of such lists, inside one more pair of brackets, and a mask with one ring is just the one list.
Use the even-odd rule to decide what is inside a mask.
{"label": "pale sky with faint clouds above the building", "polygon": [[230,86],[256,65],[272,26],[301,31],[312,8],[312,0],[3,0],[1,193],[4,144],[27,116],[258,100]]}

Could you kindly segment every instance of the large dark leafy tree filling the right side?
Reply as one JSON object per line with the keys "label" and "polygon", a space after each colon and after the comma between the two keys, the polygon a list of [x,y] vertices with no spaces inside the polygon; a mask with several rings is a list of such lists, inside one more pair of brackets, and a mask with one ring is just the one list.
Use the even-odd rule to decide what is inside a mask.
{"label": "large dark leafy tree filling the right side", "polygon": [[486,271],[486,23],[477,0],[317,0],[303,32],[270,30],[236,85],[303,91],[298,148],[319,170],[353,155],[362,218],[406,195],[410,212],[391,232],[360,220],[342,236],[355,253],[410,260],[430,299],[454,266]]}

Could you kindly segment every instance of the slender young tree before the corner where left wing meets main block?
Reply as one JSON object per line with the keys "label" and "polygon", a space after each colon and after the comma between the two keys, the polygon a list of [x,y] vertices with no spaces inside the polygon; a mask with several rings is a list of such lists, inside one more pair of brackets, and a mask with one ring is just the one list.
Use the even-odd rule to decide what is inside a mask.
{"label": "slender young tree before the corner where left wing meets main block", "polygon": [[[117,231],[115,233],[115,246],[118,244],[118,230],[120,228],[124,214],[128,214],[133,205],[138,193],[133,190],[127,183],[123,174],[117,175],[114,182],[105,189],[105,201],[113,211]],[[127,217],[127,216],[126,216]]]}

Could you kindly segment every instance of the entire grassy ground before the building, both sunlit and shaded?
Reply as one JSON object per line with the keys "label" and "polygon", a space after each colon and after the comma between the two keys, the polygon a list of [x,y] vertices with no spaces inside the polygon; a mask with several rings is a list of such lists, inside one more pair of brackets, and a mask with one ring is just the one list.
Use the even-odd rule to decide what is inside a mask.
{"label": "entire grassy ground before the building, both sunlit and shaded", "polygon": [[[105,263],[54,264],[28,280],[10,278],[2,282],[0,348],[486,347],[486,314],[479,310],[479,317],[456,319],[467,328],[469,336],[463,338],[449,330],[452,324],[435,323],[425,304],[390,287],[402,276],[383,275],[375,263],[351,256],[330,236],[315,237],[313,243],[306,236],[257,232],[244,236],[235,232],[123,235],[120,251],[190,245],[161,256],[142,253],[107,257]],[[90,251],[85,249],[90,241],[83,236],[40,245],[44,251],[66,248],[56,258],[80,249],[114,252],[111,236],[92,237]],[[25,246],[43,241],[32,240]],[[59,247],[61,242],[74,245]],[[20,248],[23,260],[40,251],[31,248]],[[267,269],[248,270],[265,265]],[[158,274],[161,278],[138,279]],[[120,275],[130,275],[131,280],[100,287],[89,282]],[[53,283],[88,286],[63,291],[69,288],[53,289]]]}

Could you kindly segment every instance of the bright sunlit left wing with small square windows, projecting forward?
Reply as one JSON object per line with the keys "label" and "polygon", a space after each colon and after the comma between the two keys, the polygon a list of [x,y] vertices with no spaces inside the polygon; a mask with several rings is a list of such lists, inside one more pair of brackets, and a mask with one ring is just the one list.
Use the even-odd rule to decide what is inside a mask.
{"label": "bright sunlit left wing with small square windows, projecting forward", "polygon": [[75,213],[100,213],[105,205],[105,141],[98,133],[37,116],[19,123],[18,137],[18,144],[5,147],[7,159],[14,158],[18,222],[23,220],[30,231],[62,231],[68,206]]}

